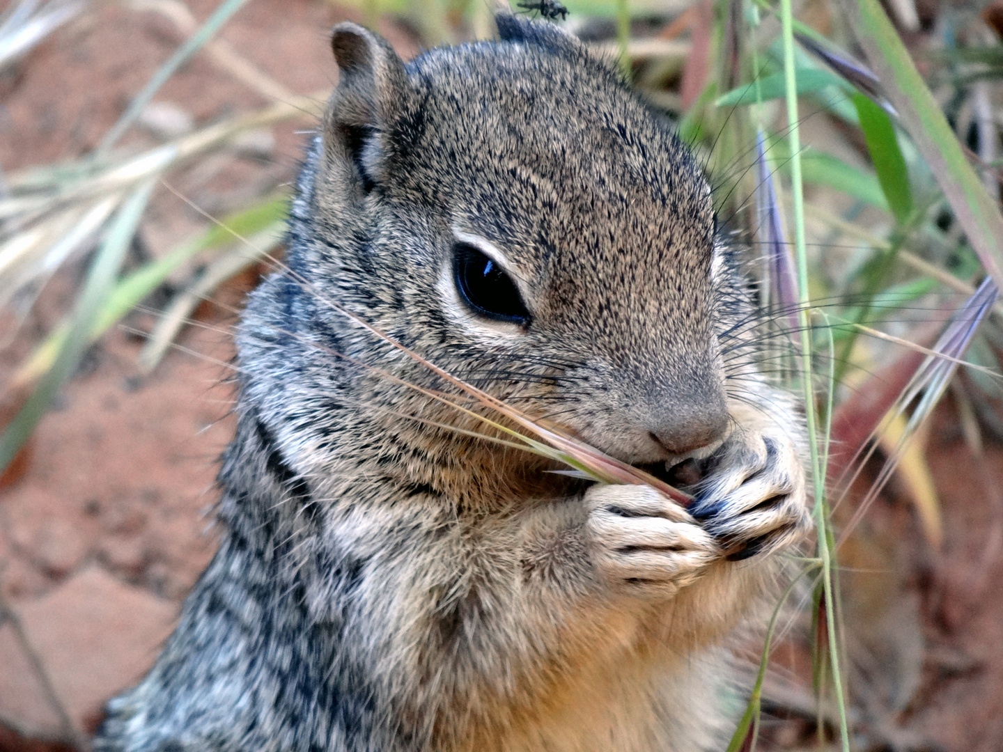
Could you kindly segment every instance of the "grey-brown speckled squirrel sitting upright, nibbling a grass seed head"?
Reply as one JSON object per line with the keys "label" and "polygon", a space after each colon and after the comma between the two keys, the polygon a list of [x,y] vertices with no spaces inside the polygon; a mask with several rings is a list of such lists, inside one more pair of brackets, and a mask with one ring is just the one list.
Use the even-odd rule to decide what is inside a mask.
{"label": "grey-brown speckled squirrel sitting upright, nibbling a grass seed head", "polygon": [[[671,123],[555,24],[495,20],[407,64],[334,28],[287,266],[237,332],[219,552],[97,752],[723,749],[729,646],[810,528],[802,418]],[[699,467],[694,502],[476,435],[388,340]]]}

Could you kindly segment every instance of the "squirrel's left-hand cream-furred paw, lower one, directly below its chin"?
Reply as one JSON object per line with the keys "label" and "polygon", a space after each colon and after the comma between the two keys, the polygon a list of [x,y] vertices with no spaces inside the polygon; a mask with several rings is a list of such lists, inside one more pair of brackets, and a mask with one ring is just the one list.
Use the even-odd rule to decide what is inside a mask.
{"label": "squirrel's left-hand cream-furred paw, lower one, directly below its chin", "polygon": [[654,488],[596,485],[585,501],[596,569],[616,592],[671,598],[721,555],[713,537]]}

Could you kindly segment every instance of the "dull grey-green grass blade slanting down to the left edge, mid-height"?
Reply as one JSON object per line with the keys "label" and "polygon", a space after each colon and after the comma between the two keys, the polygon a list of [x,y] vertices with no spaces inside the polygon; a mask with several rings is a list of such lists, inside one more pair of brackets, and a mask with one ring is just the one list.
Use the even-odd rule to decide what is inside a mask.
{"label": "dull grey-green grass blade slanting down to the left edge, mid-height", "polygon": [[73,323],[65,344],[59,350],[52,368],[45,373],[24,406],[4,429],[3,434],[0,434],[0,472],[6,469],[27,441],[52,398],[72,375],[87,349],[90,342],[88,332],[102,302],[114,286],[115,276],[146,209],[153,185],[152,180],[143,183],[125,201],[112,221],[108,236],[94,256],[83,291],[77,299]]}

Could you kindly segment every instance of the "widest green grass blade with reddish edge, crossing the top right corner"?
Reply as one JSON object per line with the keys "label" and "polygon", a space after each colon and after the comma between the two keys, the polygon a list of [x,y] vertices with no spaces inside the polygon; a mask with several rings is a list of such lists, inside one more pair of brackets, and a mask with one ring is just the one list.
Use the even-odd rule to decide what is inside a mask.
{"label": "widest green grass blade with reddish edge, crossing the top right corner", "polygon": [[868,63],[954,210],[986,272],[1003,290],[1003,216],[878,0],[843,0]]}

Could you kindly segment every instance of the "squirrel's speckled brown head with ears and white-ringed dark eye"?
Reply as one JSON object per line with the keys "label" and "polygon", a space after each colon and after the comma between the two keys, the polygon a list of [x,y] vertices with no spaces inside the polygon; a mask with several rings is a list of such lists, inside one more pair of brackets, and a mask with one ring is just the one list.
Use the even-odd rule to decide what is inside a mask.
{"label": "squirrel's speckled brown head with ears and white-ringed dark eye", "polygon": [[[406,65],[371,31],[335,27],[340,81],[294,204],[290,267],[454,376],[621,459],[715,444],[728,424],[726,265],[700,168],[577,39],[511,15],[497,26],[500,41]],[[298,326],[312,339],[442,386],[322,302],[308,309]],[[384,418],[434,407],[358,376],[370,377]]]}

